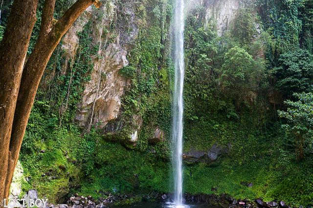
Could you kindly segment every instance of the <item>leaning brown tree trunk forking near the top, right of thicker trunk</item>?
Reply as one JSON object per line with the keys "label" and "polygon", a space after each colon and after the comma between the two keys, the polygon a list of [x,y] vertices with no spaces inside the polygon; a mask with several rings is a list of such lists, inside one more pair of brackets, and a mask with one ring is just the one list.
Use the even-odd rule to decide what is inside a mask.
{"label": "leaning brown tree trunk forking near the top, right of thicker trunk", "polygon": [[[7,198],[9,195],[10,185],[14,169],[19,158],[20,148],[30,111],[34,103],[41,77],[52,52],[59,44],[61,38],[67,32],[69,27],[87,9],[87,7],[89,7],[92,3],[99,6],[98,0],[77,0],[66,11],[64,16],[57,21],[55,25],[53,25],[54,3],[55,0],[45,0],[39,38],[35,44],[32,54],[24,66],[22,71],[22,80],[20,78],[21,84],[17,103],[16,105],[14,103],[16,108],[14,114],[12,114],[12,116],[14,115],[12,131],[8,132],[8,144],[6,144],[6,152],[10,152],[10,155],[9,157],[3,158],[3,164],[5,165],[4,167],[7,167],[7,171],[3,172],[4,177],[3,183],[0,185],[0,190],[2,188],[4,190],[4,194],[0,197],[0,199]],[[7,163],[8,160],[10,161],[9,163]]]}

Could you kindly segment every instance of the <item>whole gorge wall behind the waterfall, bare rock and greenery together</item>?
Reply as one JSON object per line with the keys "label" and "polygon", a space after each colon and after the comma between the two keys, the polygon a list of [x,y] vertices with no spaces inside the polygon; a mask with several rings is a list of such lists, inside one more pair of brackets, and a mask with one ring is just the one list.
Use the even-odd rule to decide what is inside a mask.
{"label": "whole gorge wall behind the waterfall, bare rock and greenery together", "polygon": [[[277,2],[186,1],[185,192],[294,205],[310,200],[312,187],[302,178],[312,176],[310,160],[301,166],[292,159],[276,115],[283,96],[273,75],[287,50],[282,42],[294,32],[287,26],[298,20],[286,11],[303,8]],[[172,4],[108,0],[74,23],[41,81],[15,192],[36,189],[53,203],[76,193],[127,194],[130,203],[172,191]],[[56,18],[68,6],[58,0]]]}

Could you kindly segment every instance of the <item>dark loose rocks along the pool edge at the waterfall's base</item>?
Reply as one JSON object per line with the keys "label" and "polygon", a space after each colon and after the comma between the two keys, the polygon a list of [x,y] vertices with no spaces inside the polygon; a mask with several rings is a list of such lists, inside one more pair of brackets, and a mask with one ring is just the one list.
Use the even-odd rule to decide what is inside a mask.
{"label": "dark loose rocks along the pool edge at the waterfall's base", "polygon": [[[29,194],[32,198],[38,197],[35,190],[29,190]],[[141,201],[155,201],[158,203],[165,203],[172,201],[172,194],[165,193],[150,193],[140,196],[132,194],[112,194],[105,193],[107,197],[100,197],[94,199],[91,196],[79,196],[78,194],[72,195],[65,204],[53,205],[48,203],[45,208],[108,208],[114,207],[114,205],[127,205]],[[208,206],[216,206],[222,208],[291,208],[284,201],[272,201],[265,202],[262,199],[256,199],[249,201],[246,199],[234,199],[227,194],[197,194],[192,195],[185,194],[185,200],[187,202],[207,204]],[[302,206],[300,206],[302,208]]]}

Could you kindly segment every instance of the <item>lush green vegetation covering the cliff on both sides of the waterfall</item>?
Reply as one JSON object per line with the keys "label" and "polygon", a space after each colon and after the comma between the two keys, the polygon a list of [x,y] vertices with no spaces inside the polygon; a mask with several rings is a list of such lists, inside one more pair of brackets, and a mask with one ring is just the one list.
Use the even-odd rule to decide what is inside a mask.
{"label": "lush green vegetation covering the cliff on both sides of the waterfall", "polygon": [[[57,2],[56,19],[69,6]],[[128,6],[115,3],[118,11]],[[214,144],[230,146],[230,151],[211,164],[186,164],[184,191],[312,205],[313,4],[246,4],[221,37],[215,20],[205,20],[205,5],[193,5],[186,17],[184,151]],[[5,6],[0,38],[9,3]],[[103,133],[97,126],[82,129],[74,122],[93,69],[91,57],[98,53],[91,20],[78,34],[76,55],[66,60],[60,44],[47,66],[21,149],[29,177],[23,191],[34,187],[52,202],[76,192],[100,197],[106,191],[171,191],[172,2],[134,0],[133,6],[138,37],[129,65],[119,71],[131,80],[117,121],[123,128]],[[98,11],[95,17],[103,15]],[[127,21],[116,12],[102,38],[114,42],[117,28]],[[274,94],[279,96],[271,101]],[[142,119],[135,145],[128,138],[136,127],[134,116]],[[156,126],[166,139],[150,144]]]}

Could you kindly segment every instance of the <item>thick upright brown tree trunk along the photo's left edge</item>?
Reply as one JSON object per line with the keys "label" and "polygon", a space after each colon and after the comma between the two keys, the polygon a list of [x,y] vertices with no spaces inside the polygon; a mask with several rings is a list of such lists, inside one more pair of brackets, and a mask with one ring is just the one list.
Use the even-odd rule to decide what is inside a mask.
{"label": "thick upright brown tree trunk along the photo's left edge", "polygon": [[0,43],[0,201],[7,197],[6,176],[12,170],[9,151],[11,130],[21,83],[22,69],[32,29],[36,22],[38,0],[15,0],[7,28]]}

